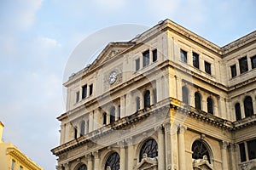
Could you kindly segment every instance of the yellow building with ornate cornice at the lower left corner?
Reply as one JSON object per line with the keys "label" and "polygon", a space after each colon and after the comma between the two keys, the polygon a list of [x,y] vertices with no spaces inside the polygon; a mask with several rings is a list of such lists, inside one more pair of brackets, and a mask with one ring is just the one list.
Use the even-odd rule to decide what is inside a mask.
{"label": "yellow building with ornate cornice at the lower left corner", "polygon": [[3,123],[0,122],[0,169],[2,170],[44,170],[14,144],[2,140]]}

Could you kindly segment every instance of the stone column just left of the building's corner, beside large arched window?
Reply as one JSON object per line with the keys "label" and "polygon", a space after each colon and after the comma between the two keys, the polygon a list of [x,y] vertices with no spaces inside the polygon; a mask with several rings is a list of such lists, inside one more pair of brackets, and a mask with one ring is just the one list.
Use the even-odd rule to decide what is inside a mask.
{"label": "stone column just left of the building's corner, beside large arched window", "polygon": [[166,162],[165,162],[165,137],[163,133],[163,127],[157,127],[158,131],[158,169],[165,169]]}

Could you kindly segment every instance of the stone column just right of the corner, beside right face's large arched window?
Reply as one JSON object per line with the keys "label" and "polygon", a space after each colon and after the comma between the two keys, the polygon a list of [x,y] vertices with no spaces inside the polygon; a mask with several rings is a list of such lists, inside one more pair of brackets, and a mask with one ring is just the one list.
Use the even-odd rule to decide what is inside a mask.
{"label": "stone column just right of the corner, beside right face's large arched window", "polygon": [[178,130],[178,166],[180,170],[186,169],[186,157],[185,157],[185,140],[184,140],[184,132],[187,127],[180,125]]}

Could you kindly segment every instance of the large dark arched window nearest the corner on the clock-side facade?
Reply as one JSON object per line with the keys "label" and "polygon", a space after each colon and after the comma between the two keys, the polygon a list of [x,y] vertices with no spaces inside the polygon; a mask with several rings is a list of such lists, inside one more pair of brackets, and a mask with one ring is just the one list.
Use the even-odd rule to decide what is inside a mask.
{"label": "large dark arched window nearest the corner on the clock-side facade", "polygon": [[143,159],[143,154],[147,154],[148,157],[158,156],[158,146],[154,139],[148,139],[140,150],[140,161]]}

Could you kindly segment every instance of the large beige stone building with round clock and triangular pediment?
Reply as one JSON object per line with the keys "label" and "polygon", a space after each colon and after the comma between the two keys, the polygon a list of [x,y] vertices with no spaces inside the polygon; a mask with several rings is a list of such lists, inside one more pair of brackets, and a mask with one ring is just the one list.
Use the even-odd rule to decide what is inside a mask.
{"label": "large beige stone building with round clock and triangular pediment", "polygon": [[256,31],[218,47],[171,20],[64,83],[59,170],[256,169]]}

